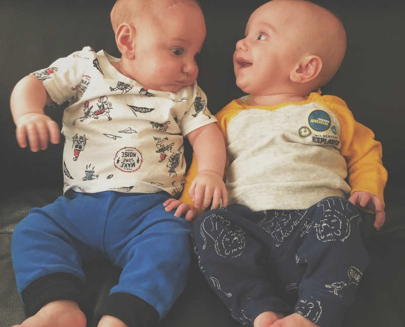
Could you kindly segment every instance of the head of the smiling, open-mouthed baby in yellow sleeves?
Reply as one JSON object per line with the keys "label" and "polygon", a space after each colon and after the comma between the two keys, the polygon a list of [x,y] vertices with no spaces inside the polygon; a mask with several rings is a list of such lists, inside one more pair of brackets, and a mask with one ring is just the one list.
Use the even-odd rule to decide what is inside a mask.
{"label": "head of the smiling, open-mouthed baby in yellow sleeves", "polygon": [[345,51],[334,14],[304,0],[273,0],[253,12],[236,43],[236,84],[256,95],[307,95],[333,78]]}

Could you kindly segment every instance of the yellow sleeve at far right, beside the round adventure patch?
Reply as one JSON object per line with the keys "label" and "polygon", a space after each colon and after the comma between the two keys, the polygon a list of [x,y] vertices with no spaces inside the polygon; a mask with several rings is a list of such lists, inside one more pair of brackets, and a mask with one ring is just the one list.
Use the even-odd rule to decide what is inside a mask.
{"label": "yellow sleeve at far right, beside the round adventure patch", "polygon": [[346,103],[335,96],[323,96],[337,115],[340,125],[342,156],[346,159],[351,194],[367,191],[379,197],[384,203],[384,188],[388,173],[382,163],[381,142],[375,140],[368,127],[358,123]]}

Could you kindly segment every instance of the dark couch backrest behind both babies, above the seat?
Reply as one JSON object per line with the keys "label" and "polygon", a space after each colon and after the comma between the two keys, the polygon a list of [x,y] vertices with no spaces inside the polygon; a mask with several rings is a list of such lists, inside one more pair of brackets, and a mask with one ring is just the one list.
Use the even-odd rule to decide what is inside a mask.
{"label": "dark couch backrest behind both babies, above the seat", "polygon": [[[235,86],[232,53],[252,11],[265,1],[201,0],[207,39],[198,57],[198,84],[212,113],[243,93]],[[315,1],[341,18],[348,35],[345,60],[323,94],[342,97],[357,121],[383,143],[389,185],[404,183],[403,143],[405,2]],[[113,1],[10,1],[0,4],[0,135],[2,192],[35,185],[62,189],[62,147],[31,153],[19,149],[10,114],[14,85],[29,72],[86,45],[119,56],[110,27]],[[61,110],[50,113],[58,123]]]}

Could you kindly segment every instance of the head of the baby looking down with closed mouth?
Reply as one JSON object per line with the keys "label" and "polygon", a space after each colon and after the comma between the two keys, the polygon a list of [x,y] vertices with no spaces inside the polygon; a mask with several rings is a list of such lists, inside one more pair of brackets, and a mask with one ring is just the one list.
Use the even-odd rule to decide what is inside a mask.
{"label": "head of the baby looking down with closed mouth", "polygon": [[117,0],[111,10],[121,74],[147,89],[177,92],[198,75],[206,25],[195,0]]}

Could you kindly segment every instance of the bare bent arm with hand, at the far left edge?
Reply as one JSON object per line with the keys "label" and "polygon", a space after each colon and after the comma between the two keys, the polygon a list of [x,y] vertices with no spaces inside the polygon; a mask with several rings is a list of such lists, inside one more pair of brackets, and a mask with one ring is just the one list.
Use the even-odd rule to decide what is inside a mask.
{"label": "bare bent arm with hand, at the far left edge", "polygon": [[59,143],[58,124],[44,114],[44,106],[50,102],[45,87],[33,75],[24,77],[14,87],[10,107],[21,148],[27,146],[27,138],[33,152],[47,149],[49,140]]}

